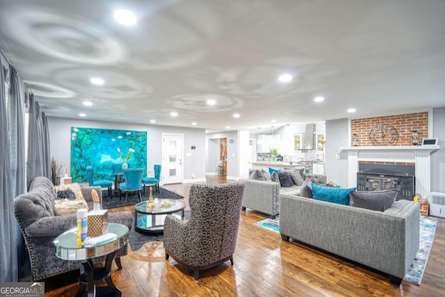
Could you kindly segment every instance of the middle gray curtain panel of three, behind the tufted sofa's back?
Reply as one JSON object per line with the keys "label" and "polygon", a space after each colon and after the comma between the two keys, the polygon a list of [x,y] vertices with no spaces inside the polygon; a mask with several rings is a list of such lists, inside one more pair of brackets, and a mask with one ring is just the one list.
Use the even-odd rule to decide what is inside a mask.
{"label": "middle gray curtain panel of three, behind the tufted sofa's back", "polygon": [[[10,166],[13,196],[26,191],[25,174],[25,115],[24,92],[21,88],[19,75],[13,66],[9,66],[10,88],[8,100],[8,123],[10,139]],[[29,261],[26,261],[26,245],[19,225],[15,224],[17,241],[17,264],[19,278],[30,274]]]}

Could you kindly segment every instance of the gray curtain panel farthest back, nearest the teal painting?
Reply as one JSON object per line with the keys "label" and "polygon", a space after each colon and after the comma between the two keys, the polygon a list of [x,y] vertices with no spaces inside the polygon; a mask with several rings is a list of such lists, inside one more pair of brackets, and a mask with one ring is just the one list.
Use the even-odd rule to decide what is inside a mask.
{"label": "gray curtain panel farthest back, nearest the teal painting", "polygon": [[38,102],[34,101],[33,93],[29,94],[27,103],[29,106],[29,145],[26,185],[29,186],[34,177],[44,176],[51,179],[51,161],[47,117],[40,111]]}

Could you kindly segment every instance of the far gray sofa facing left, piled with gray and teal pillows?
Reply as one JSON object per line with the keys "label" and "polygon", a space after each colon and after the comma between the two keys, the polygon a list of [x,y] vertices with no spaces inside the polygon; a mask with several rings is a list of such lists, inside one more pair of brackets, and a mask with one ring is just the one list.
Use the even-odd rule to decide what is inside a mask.
{"label": "far gray sofa facing left, piled with gray and teal pillows", "polygon": [[[325,175],[305,174],[303,179],[310,179],[314,184],[326,184]],[[252,209],[264,214],[270,218],[275,218],[280,214],[280,194],[281,193],[300,193],[300,186],[291,186],[284,188],[279,182],[267,182],[257,179],[245,179],[245,190],[243,197],[243,211]]]}

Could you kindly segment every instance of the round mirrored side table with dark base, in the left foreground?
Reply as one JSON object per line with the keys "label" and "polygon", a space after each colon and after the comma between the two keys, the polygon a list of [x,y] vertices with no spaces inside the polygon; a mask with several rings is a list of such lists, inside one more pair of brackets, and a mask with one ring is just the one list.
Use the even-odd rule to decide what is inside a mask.
{"label": "round mirrored side table with dark base, in the left foreground", "polygon": [[[120,289],[111,280],[111,263],[115,253],[128,243],[128,227],[118,223],[108,223],[108,233],[113,237],[96,244],[77,248],[77,228],[73,228],[57,236],[54,240],[56,256],[68,261],[81,263],[80,287],[76,296],[122,296]],[[95,266],[92,259],[106,255],[104,267]],[[96,287],[106,280],[108,286]]]}

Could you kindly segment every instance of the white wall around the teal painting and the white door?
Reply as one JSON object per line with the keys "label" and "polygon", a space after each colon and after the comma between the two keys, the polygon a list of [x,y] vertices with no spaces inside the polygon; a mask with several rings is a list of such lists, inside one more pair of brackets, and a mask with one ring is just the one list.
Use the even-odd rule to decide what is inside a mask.
{"label": "white wall around the teal painting and the white door", "polygon": [[[48,118],[51,156],[71,172],[71,127],[147,131],[147,168],[162,163],[162,133],[184,134],[184,179],[205,178],[206,134],[204,129],[158,125]],[[191,146],[196,147],[191,150]],[[187,154],[190,154],[187,156]]]}

